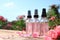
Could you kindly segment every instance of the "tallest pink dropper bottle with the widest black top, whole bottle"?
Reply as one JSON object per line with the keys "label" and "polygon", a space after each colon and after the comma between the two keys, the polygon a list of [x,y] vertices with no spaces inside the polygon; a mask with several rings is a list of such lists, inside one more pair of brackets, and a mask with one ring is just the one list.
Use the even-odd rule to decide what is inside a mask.
{"label": "tallest pink dropper bottle with the widest black top, whole bottle", "polygon": [[41,20],[40,20],[40,26],[41,26],[41,36],[45,35],[48,30],[49,30],[49,26],[48,26],[48,19],[47,19],[47,15],[46,15],[46,9],[43,8],[42,9],[42,15],[41,15]]}

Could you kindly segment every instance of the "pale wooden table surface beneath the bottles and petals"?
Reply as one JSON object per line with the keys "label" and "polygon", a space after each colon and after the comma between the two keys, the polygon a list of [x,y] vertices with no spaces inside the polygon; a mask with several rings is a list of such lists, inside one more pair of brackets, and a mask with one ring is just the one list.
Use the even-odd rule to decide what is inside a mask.
{"label": "pale wooden table surface beneath the bottles and petals", "polygon": [[44,40],[42,37],[41,38],[21,37],[16,32],[20,31],[0,29],[0,40]]}

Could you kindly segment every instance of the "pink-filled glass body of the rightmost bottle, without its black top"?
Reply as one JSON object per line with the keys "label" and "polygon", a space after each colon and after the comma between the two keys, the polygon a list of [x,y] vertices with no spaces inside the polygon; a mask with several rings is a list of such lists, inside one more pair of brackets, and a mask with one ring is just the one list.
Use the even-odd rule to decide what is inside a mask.
{"label": "pink-filled glass body of the rightmost bottle, without its black top", "polygon": [[40,23],[41,35],[45,35],[49,31],[48,20],[43,18]]}

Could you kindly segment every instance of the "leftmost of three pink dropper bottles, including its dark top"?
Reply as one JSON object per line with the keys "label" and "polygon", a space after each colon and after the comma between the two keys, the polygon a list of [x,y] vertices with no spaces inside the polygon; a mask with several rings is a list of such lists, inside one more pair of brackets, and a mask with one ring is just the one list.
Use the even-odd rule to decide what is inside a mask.
{"label": "leftmost of three pink dropper bottles, including its dark top", "polygon": [[26,20],[26,33],[32,35],[32,16],[31,11],[28,10],[28,16]]}

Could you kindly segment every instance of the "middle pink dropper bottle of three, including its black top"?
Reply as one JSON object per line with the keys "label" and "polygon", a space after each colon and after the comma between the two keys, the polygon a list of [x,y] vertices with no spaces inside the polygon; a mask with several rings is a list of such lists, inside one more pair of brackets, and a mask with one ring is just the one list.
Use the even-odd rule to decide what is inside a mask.
{"label": "middle pink dropper bottle of three, including its black top", "polygon": [[37,33],[38,35],[40,35],[40,24],[38,18],[39,18],[38,10],[35,9],[34,22],[33,22],[33,34]]}

